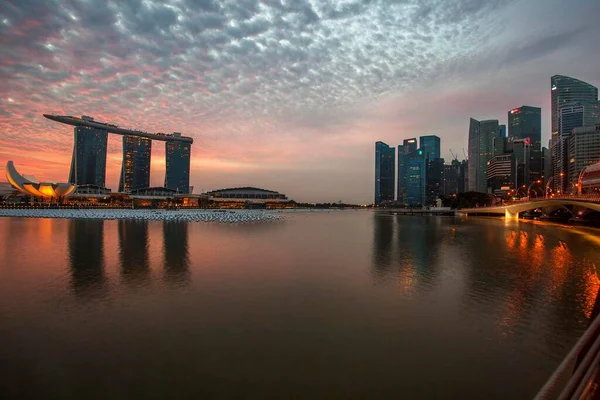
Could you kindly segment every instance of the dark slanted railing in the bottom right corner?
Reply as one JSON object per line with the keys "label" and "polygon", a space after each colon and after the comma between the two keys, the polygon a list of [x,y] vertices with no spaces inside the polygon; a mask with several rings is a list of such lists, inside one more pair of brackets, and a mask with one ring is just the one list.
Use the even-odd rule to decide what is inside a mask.
{"label": "dark slanted railing in the bottom right corner", "polygon": [[535,399],[593,399],[600,395],[599,383],[600,314],[595,317]]}

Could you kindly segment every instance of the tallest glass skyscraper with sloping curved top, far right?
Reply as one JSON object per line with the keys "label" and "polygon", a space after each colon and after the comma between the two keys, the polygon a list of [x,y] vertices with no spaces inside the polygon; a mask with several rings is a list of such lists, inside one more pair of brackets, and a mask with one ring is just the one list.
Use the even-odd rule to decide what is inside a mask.
{"label": "tallest glass skyscraper with sloping curved top, far right", "polygon": [[[572,107],[576,104],[583,105],[598,101],[598,88],[579,79],[563,75],[554,75],[550,78],[551,94],[551,119],[552,136],[550,140],[550,154],[552,157],[552,176],[554,177],[554,191],[565,191],[568,189],[568,135],[569,127],[577,123],[573,119],[579,117],[577,110]],[[561,118],[561,108],[565,111]],[[581,111],[581,110],[580,110]],[[583,112],[581,112],[583,114]],[[583,115],[581,115],[583,118]],[[581,122],[580,122],[581,123]],[[591,124],[587,123],[587,124]],[[580,125],[586,126],[586,125]],[[574,126],[572,126],[574,127]],[[572,129],[572,128],[571,128]],[[551,177],[548,177],[550,179]]]}

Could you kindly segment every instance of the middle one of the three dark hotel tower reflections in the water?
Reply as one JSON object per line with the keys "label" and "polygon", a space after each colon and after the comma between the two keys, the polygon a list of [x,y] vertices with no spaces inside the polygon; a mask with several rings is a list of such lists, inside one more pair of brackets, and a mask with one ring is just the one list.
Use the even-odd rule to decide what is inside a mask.
{"label": "middle one of the three dark hotel tower reflections in the water", "polygon": [[119,220],[119,258],[124,283],[134,286],[148,283],[148,221]]}

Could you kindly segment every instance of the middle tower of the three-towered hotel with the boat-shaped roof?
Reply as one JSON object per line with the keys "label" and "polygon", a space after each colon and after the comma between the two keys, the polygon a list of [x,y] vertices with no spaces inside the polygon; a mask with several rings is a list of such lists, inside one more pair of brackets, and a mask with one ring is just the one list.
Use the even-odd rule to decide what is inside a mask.
{"label": "middle tower of the three-towered hotel with the boat-shaped roof", "polygon": [[130,192],[150,186],[150,155],[152,140],[138,136],[123,136],[123,163],[119,192]]}

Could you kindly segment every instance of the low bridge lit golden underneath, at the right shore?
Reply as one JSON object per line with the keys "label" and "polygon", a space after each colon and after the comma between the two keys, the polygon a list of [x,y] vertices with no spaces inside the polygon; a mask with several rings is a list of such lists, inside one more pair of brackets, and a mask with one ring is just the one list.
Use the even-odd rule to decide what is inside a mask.
{"label": "low bridge lit golden underneath, at the right shore", "polygon": [[521,212],[541,208],[550,213],[560,208],[566,208],[566,206],[582,207],[590,211],[600,212],[600,196],[583,195],[533,199],[499,206],[463,208],[457,210],[457,213],[460,215],[504,215],[506,219],[519,219],[519,213]]}

